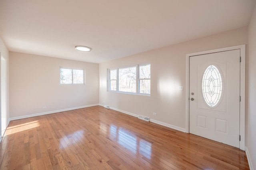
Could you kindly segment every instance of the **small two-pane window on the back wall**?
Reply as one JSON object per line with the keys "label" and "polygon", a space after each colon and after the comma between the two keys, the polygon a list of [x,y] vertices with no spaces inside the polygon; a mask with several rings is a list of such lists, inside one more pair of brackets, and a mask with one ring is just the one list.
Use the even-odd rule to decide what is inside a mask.
{"label": "small two-pane window on the back wall", "polygon": [[84,84],[84,70],[60,68],[60,84]]}

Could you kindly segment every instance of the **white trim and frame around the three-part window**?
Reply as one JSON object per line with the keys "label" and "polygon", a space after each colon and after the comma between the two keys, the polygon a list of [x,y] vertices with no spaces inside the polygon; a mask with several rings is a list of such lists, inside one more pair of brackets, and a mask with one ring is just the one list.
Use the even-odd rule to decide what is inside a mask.
{"label": "white trim and frame around the three-part window", "polygon": [[[110,92],[114,92],[114,93],[124,93],[124,94],[130,94],[130,95],[142,95],[142,96],[150,96],[151,94],[151,86],[150,86],[150,94],[146,94],[146,93],[139,93],[140,91],[140,84],[139,84],[139,80],[151,80],[151,79],[139,79],[139,67],[143,66],[143,65],[148,65],[150,64],[150,72],[151,72],[151,63],[142,63],[142,64],[136,64],[136,65],[128,65],[128,66],[124,66],[124,67],[113,67],[110,69],[107,69],[107,91]],[[124,68],[129,68],[129,67],[136,67],[136,92],[125,92],[125,91],[119,91],[119,69],[124,69]],[[111,90],[110,89],[110,71],[111,70],[116,70],[116,90]],[[151,73],[150,73],[151,74]],[[150,77],[151,78],[151,77]],[[113,79],[114,80],[114,79]],[[151,81],[150,81],[151,83]]]}

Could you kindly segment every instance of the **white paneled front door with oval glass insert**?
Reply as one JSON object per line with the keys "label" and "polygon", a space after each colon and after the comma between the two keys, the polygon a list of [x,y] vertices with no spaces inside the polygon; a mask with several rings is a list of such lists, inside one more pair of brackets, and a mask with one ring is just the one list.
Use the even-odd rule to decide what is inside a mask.
{"label": "white paneled front door with oval glass insert", "polygon": [[240,49],[191,56],[190,133],[239,148]]}

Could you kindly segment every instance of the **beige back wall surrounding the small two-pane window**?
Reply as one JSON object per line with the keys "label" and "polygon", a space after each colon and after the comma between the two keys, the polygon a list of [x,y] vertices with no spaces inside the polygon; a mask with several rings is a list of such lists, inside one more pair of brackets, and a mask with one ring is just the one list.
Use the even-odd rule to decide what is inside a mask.
{"label": "beige back wall surrounding the small two-pane window", "polygon": [[[86,84],[60,85],[60,66],[85,69]],[[98,75],[96,63],[10,52],[10,118],[98,104]]]}

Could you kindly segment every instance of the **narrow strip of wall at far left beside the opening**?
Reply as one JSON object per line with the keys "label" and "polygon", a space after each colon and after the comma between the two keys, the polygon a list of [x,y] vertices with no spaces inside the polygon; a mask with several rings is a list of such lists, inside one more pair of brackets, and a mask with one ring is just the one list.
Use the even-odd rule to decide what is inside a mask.
{"label": "narrow strip of wall at far left beside the opening", "polygon": [[[1,53],[1,56],[4,57],[4,59],[6,59],[6,125],[7,125],[7,122],[9,119],[9,51],[6,45],[4,44],[4,42],[2,41],[2,38],[0,38],[0,53]],[[1,58],[0,58],[0,67],[1,67]],[[0,69],[0,72],[1,72],[1,69]],[[1,97],[0,97],[0,103],[1,103]],[[0,111],[1,111],[1,104],[0,104]],[[0,132],[1,130],[2,129],[0,126]]]}

